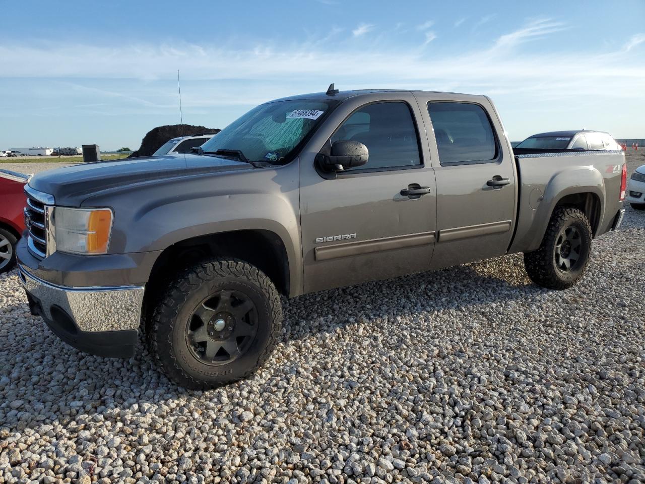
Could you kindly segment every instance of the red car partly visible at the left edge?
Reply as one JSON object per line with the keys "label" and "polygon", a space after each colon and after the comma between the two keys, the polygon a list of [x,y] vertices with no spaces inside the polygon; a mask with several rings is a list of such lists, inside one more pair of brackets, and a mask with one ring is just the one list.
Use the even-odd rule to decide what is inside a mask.
{"label": "red car partly visible at the left edge", "polygon": [[25,185],[29,177],[0,170],[0,273],[15,265],[15,244],[25,230]]}

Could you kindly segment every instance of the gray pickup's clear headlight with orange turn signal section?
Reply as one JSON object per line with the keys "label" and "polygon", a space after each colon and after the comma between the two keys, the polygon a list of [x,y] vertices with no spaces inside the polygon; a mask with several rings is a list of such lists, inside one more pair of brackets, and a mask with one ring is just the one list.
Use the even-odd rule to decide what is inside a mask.
{"label": "gray pickup's clear headlight with orange turn signal section", "polygon": [[56,250],[105,254],[112,231],[110,208],[54,208]]}

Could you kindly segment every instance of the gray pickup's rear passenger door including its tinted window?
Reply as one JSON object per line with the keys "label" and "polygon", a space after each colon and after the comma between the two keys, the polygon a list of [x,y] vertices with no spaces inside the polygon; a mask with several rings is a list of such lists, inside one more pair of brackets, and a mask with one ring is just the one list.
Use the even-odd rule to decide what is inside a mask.
{"label": "gray pickup's rear passenger door including its tinted window", "polygon": [[[487,98],[417,93],[437,179],[432,268],[505,254],[515,223],[515,159]],[[503,137],[501,137],[503,136]]]}

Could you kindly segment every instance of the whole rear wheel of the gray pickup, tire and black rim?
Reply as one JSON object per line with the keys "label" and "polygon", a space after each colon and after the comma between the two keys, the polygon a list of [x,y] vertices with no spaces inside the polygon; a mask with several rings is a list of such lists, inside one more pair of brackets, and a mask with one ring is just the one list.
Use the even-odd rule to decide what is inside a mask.
{"label": "whole rear wheel of the gray pickup, tire and black rim", "polygon": [[591,225],[577,208],[557,208],[537,250],[524,254],[531,281],[550,289],[566,289],[577,283],[589,263]]}

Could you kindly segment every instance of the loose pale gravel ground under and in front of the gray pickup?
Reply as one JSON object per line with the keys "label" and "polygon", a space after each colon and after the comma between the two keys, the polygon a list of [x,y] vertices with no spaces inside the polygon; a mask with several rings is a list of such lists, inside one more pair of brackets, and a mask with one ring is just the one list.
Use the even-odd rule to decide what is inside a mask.
{"label": "loose pale gravel ground under and in front of the gray pickup", "polygon": [[298,297],[265,367],[208,392],[143,345],[79,354],[0,276],[0,483],[642,483],[645,212],[592,257],[564,292],[514,255]]}

